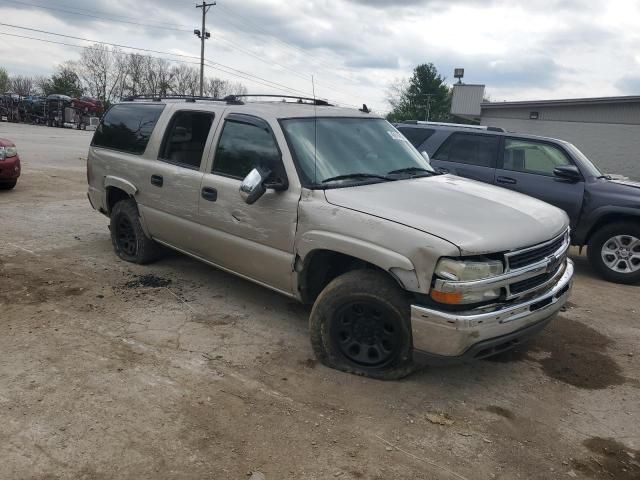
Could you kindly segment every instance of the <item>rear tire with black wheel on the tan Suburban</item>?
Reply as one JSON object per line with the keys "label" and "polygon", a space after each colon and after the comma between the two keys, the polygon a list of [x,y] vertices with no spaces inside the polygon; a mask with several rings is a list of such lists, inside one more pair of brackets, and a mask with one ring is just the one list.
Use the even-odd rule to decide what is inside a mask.
{"label": "rear tire with black wheel on the tan Suburban", "polygon": [[111,243],[122,260],[144,265],[162,256],[162,247],[147,237],[135,200],[121,200],[111,211]]}

